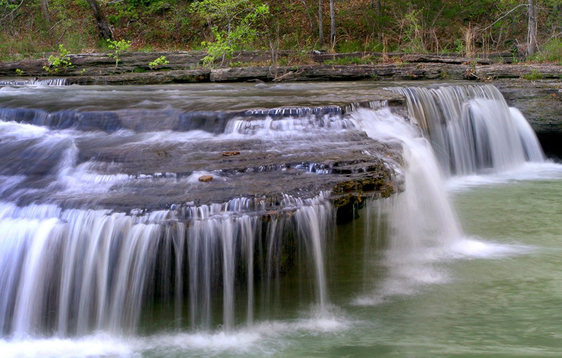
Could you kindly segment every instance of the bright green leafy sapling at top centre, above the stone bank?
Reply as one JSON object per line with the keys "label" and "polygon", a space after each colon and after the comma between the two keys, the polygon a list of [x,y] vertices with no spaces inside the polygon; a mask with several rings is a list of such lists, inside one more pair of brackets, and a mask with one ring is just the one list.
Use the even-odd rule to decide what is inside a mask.
{"label": "bright green leafy sapling at top centre, above the stone bank", "polygon": [[207,50],[205,66],[218,59],[223,66],[235,50],[248,46],[258,34],[257,23],[269,14],[268,5],[252,0],[200,0],[191,10],[211,24],[214,41],[201,43]]}

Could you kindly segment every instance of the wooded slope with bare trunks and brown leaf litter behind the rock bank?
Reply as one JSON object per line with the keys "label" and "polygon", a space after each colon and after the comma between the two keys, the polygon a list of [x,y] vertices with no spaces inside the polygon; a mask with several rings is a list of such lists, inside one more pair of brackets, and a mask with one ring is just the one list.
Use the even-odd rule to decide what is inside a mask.
{"label": "wooded slope with bare trunks and brown leaf litter behind the rock bank", "polygon": [[[71,53],[108,52],[107,38],[130,41],[135,51],[207,50],[217,41],[216,29],[226,24],[209,16],[212,10],[198,11],[197,3],[204,1],[0,0],[0,60],[44,58],[58,52],[60,44]],[[526,53],[531,61],[562,64],[562,0],[216,3],[237,1],[245,6],[239,17],[260,5],[268,11],[253,19],[252,36],[234,43],[234,50],[467,56],[509,51]]]}

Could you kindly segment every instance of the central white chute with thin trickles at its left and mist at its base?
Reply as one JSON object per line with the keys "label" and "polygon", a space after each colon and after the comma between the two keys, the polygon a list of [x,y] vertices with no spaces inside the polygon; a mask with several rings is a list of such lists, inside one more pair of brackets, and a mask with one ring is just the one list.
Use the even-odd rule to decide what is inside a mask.
{"label": "central white chute with thin trickles at its left and mist at its base", "polygon": [[373,269],[371,263],[380,250],[380,243],[373,242],[380,234],[373,230],[384,221],[388,243],[384,245],[382,265],[387,277],[372,288],[366,276],[368,292],[355,303],[374,305],[389,296],[413,294],[420,285],[446,281],[446,274],[433,264],[463,240],[463,232],[443,190],[445,180],[429,141],[414,124],[388,108],[359,110],[351,118],[370,137],[398,141],[404,150],[404,192],[371,203],[366,213],[371,222],[365,230],[365,270],[380,270],[377,266]]}

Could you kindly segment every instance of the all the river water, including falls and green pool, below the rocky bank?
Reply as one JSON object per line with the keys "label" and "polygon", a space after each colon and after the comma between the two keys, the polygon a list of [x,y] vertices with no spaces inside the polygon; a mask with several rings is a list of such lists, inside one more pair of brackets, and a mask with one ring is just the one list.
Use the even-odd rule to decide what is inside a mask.
{"label": "all the river water, including falls and green pool, below the rocky bank", "polygon": [[[0,88],[3,355],[560,356],[562,166],[493,86],[323,106],[370,86]],[[291,100],[323,107],[240,113]],[[225,143],[243,173],[211,165]],[[338,226],[326,191],[231,184],[396,146],[404,192]]]}

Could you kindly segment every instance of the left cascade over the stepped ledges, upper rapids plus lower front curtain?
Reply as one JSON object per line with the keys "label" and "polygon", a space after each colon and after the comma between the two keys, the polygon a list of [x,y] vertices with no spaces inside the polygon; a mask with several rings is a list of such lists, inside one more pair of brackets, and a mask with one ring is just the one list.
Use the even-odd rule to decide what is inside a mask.
{"label": "left cascade over the stepped ledges, upper rapids plus lower front curtain", "polygon": [[[201,120],[214,113],[165,115],[176,122],[163,122],[163,131],[182,131],[176,134],[179,139],[166,133],[164,140],[171,137],[174,145],[222,140],[240,145],[265,136],[268,146],[274,141],[294,150],[308,145],[316,132],[351,126],[335,108],[248,113],[257,117],[253,120],[219,114],[216,128]],[[150,315],[162,316],[158,328],[232,330],[269,317],[271,307],[278,309],[283,294],[279,281],[293,266],[314,283],[299,288],[306,292],[301,295],[315,302],[320,316],[327,312],[324,250],[335,215],[328,192],[308,198],[284,194],[207,205],[188,202],[165,210],[98,209],[99,198],[119,194],[128,185],[144,190],[161,183],[164,190],[152,196],[161,200],[158,195],[177,191],[175,185],[194,190],[201,174],[125,174],[120,158],[101,162],[95,152],[81,158],[88,149],[84,141],[96,143],[94,147],[130,141],[135,148],[152,150],[158,139],[150,132],[139,134],[146,129],[129,113],[6,108],[0,119],[4,334],[16,339],[51,333],[130,334],[142,331]],[[293,167],[303,165],[297,163]],[[286,169],[283,164],[244,172]],[[220,174],[213,173],[216,181]],[[81,197],[79,205],[68,204]],[[52,201],[57,204],[44,204]],[[245,310],[239,308],[242,301]]]}

